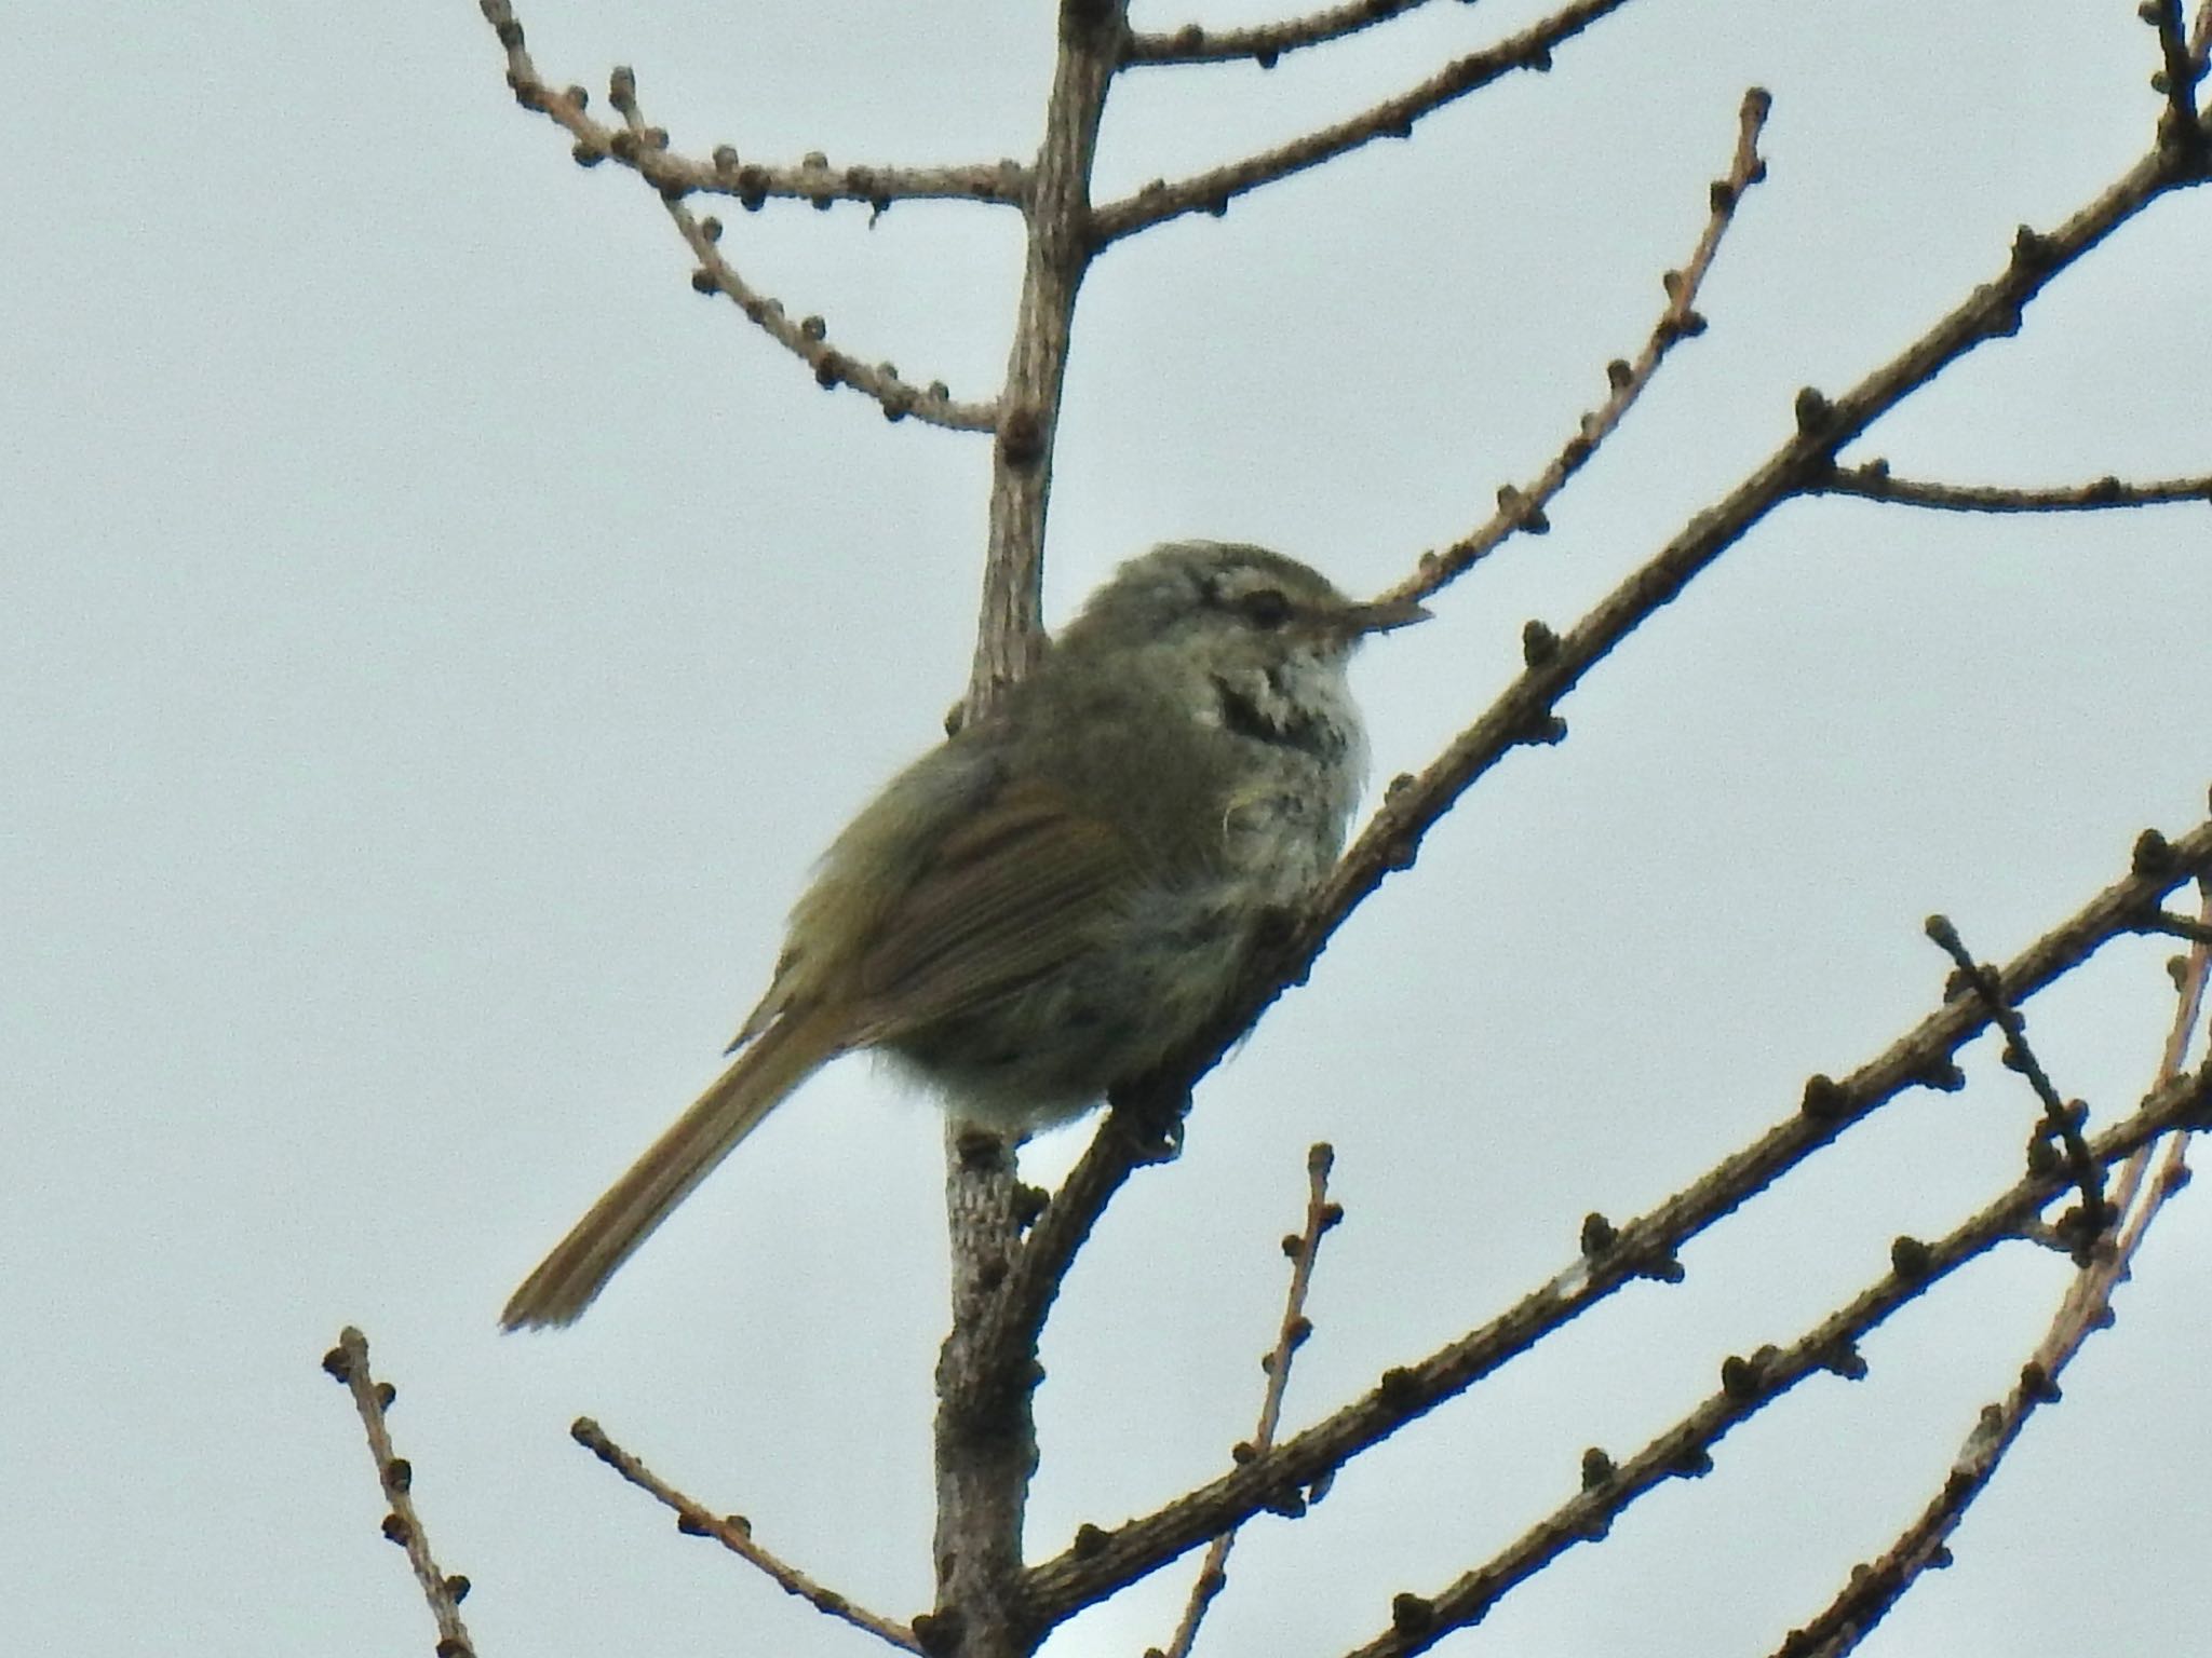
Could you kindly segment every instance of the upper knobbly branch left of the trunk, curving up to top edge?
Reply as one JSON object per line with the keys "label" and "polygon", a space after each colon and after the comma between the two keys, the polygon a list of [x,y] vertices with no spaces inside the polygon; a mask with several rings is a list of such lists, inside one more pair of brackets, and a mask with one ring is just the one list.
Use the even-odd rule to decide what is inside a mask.
{"label": "upper knobbly branch left of the trunk, curving up to top edge", "polygon": [[743,161],[728,144],[719,146],[706,161],[675,155],[666,141],[657,146],[630,144],[626,126],[602,126],[586,115],[591,99],[582,86],[555,88],[538,73],[522,44],[522,24],[515,22],[511,0],[480,0],[480,4],[484,20],[507,49],[507,84],[513,88],[515,102],[566,128],[575,139],[575,159],[582,166],[597,166],[613,157],[664,197],[726,195],[737,197],[748,210],[774,199],[805,201],[816,208],[860,201],[874,212],[883,212],[894,201],[989,201],[1018,208],[1029,195],[1029,172],[1020,161],[940,168],[832,168],[821,153],[807,155],[799,166],[787,166]]}

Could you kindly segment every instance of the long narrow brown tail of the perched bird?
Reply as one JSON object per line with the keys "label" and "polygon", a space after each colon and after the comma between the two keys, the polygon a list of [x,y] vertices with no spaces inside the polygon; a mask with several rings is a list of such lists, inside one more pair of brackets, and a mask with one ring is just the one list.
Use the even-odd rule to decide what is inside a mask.
{"label": "long narrow brown tail of the perched bird", "polygon": [[838,1048],[818,1012],[776,1019],[522,1280],[500,1326],[573,1324],[637,1245]]}

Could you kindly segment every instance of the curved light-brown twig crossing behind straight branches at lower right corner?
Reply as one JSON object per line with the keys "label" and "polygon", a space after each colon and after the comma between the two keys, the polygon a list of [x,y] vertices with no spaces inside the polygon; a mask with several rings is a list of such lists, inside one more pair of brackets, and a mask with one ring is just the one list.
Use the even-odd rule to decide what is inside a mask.
{"label": "curved light-brown twig crossing behind straight branches at lower right corner", "polygon": [[[2212,922],[2212,891],[2205,893],[2205,920]],[[2181,973],[2174,1019],[2159,1057],[2159,1088],[2172,1085],[2188,1059],[2190,1039],[2203,1015],[2208,964],[2212,948],[2199,944]],[[2183,1161],[2188,1132],[2166,1138],[2159,1174],[2143,1189],[2143,1174],[2157,1156],[2157,1143],[2137,1147],[2121,1172],[2115,1207],[2124,1216],[2112,1245],[2081,1273],[2075,1273],[2051,1331],[2035,1355],[2022,1366],[2020,1386],[2000,1404],[1982,1408],[1973,1433],[1947,1470],[1942,1488],[1927,1508],[1871,1563],[1851,1572],[1851,1581],[1801,1629],[1792,1629],[1774,1658],[1845,1658],[1871,1631],[1907,1589],[1929,1572],[1951,1561],[1951,1534],[1973,1499],[1989,1488],[1997,1463],[2020,1439],[2028,1415],[2057,1397],[2057,1382],[2093,1331],[2112,1322],[2112,1289],[2128,1276],[2135,1251],[2152,1218],[2188,1178]]]}

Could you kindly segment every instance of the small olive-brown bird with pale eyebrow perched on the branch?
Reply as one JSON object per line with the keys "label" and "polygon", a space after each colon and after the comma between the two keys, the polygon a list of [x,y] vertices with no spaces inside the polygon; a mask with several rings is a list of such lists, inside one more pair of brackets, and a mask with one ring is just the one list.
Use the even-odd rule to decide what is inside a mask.
{"label": "small olive-brown bird with pale eyebrow perched on the branch", "polygon": [[993,714],[838,833],[728,1068],[500,1324],[571,1324],[838,1054],[874,1050],[1009,1138],[1164,1061],[1334,867],[1367,767],[1349,657],[1427,615],[1237,542],[1124,562]]}

